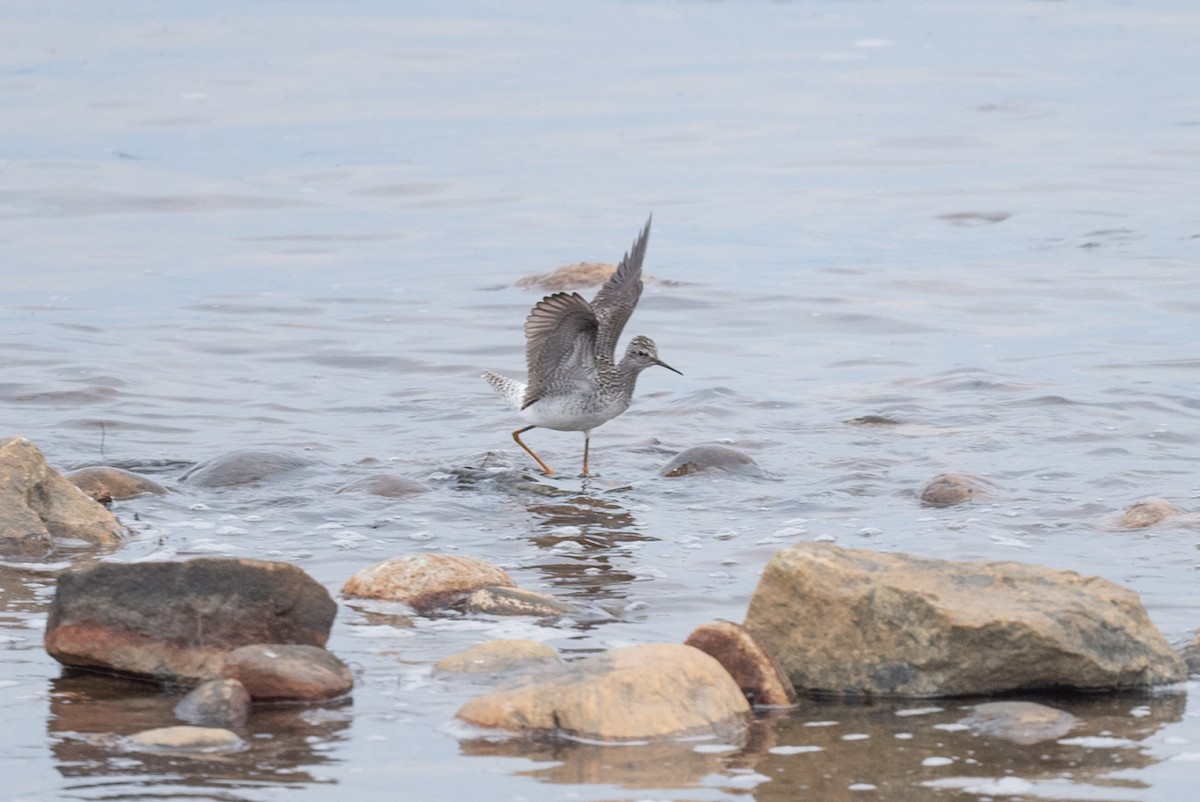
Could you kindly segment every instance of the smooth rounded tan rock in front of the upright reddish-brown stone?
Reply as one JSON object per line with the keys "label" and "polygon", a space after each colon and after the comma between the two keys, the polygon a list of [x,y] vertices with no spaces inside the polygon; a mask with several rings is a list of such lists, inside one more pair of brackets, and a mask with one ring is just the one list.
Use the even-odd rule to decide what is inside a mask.
{"label": "smooth rounded tan rock in front of the upright reddish-brown stone", "polygon": [[568,663],[547,678],[485,694],[458,710],[478,726],[602,741],[714,734],[744,726],[750,706],[721,664],[697,648],[648,644]]}

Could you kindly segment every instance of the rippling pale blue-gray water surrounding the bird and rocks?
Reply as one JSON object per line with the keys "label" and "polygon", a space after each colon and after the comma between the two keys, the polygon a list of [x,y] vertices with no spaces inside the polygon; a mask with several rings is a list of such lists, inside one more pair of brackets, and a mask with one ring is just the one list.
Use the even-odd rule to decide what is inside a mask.
{"label": "rippling pale blue-gray water surrounding the bird and rocks", "polygon": [[[1058,743],[959,701],[808,702],[745,742],[480,742],[431,675],[488,638],[566,654],[740,620],[781,545],[1020,559],[1200,627],[1200,10],[1126,2],[10,2],[0,25],[0,433],[175,492],[106,559],[295,562],[331,592],[425,550],[592,605],[558,626],[343,605],[353,701],[256,714],[247,753],[126,754],[172,723],[41,647],[54,571],[0,567],[0,767],[17,800],[1151,800],[1200,778],[1196,688],[1054,704]],[[479,379],[523,371],[522,275],[617,261],[654,213],[596,430],[528,441]],[[886,415],[895,426],[845,421]],[[732,444],[766,479],[671,480]],[[242,448],[317,467],[179,484]],[[994,485],[930,510],[944,471]],[[395,473],[428,492],[335,495]],[[480,478],[481,477],[481,478]],[[803,747],[803,748],[798,748]]]}

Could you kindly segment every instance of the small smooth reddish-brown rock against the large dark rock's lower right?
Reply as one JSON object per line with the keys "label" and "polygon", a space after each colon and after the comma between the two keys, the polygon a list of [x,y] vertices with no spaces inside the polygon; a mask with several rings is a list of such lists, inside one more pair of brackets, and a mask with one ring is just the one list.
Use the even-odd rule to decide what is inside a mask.
{"label": "small smooth reddish-brown rock against the large dark rock's lower right", "polygon": [[350,670],[331,652],[295,644],[235,648],[222,674],[244,684],[254,701],[323,701],[354,687]]}

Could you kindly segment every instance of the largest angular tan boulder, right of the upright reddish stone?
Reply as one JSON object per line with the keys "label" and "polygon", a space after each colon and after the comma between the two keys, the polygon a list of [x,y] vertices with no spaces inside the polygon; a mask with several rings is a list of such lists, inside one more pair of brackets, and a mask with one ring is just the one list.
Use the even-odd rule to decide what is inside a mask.
{"label": "largest angular tan boulder, right of the upright reddish stone", "polygon": [[1133,591],[1012,562],[800,544],[770,558],[745,624],[797,689],[822,693],[1146,688],[1187,674]]}

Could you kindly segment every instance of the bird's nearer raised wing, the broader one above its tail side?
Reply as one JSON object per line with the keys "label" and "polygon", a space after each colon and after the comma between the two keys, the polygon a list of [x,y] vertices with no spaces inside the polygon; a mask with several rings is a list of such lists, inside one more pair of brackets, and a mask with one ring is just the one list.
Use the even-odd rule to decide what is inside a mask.
{"label": "bird's nearer raised wing, the broader one above its tail side", "polygon": [[538,301],[526,318],[529,378],[522,409],[556,382],[595,379],[596,329],[596,315],[578,293],[554,293]]}

